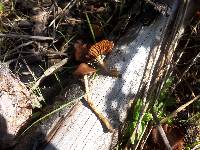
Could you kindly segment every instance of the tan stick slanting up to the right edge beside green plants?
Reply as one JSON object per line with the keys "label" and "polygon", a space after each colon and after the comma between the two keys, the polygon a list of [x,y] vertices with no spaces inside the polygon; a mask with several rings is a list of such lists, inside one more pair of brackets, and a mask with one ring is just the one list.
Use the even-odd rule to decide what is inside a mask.
{"label": "tan stick slanting up to the right edge beside green plants", "polygon": [[190,104],[192,104],[194,101],[198,100],[200,98],[200,95],[196,96],[195,98],[191,99],[189,102],[185,103],[184,105],[181,105],[178,109],[176,109],[174,112],[172,112],[169,116],[167,116],[166,118],[162,119],[160,121],[161,124],[165,123],[167,120],[173,118],[176,116],[177,113],[181,112],[182,110],[184,110],[187,106],[189,106]]}

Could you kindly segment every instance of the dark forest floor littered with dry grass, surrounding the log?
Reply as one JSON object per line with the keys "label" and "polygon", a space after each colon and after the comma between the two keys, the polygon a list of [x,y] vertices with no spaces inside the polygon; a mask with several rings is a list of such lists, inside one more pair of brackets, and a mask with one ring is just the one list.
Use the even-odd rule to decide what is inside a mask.
{"label": "dark forest floor littered with dry grass, surrounding the log", "polygon": [[[136,4],[138,7],[133,10]],[[53,71],[35,85],[35,88],[48,93],[49,87],[65,83],[66,76],[73,78],[74,70],[83,61],[79,58],[79,47],[89,47],[105,39],[115,43],[143,15],[143,7],[141,0],[3,0],[0,2],[0,61],[8,63],[12,72],[31,89],[48,68],[66,60],[61,64],[62,69],[56,68],[58,72]],[[144,16],[141,21],[148,24],[151,17]],[[176,65],[170,73],[168,96],[162,99],[170,102],[162,101],[166,106],[161,117],[200,94],[199,37],[200,11],[197,11],[175,51],[173,60]],[[36,94],[42,101],[33,104],[34,112],[54,103],[48,101],[48,94]],[[55,91],[54,94],[56,97],[60,93]],[[169,141],[174,141],[173,145],[184,145],[186,149],[198,147],[200,101],[190,104],[163,128]],[[162,139],[156,137],[157,132],[152,129],[146,149],[161,149]],[[123,137],[121,145],[127,143],[127,139],[127,135]]]}

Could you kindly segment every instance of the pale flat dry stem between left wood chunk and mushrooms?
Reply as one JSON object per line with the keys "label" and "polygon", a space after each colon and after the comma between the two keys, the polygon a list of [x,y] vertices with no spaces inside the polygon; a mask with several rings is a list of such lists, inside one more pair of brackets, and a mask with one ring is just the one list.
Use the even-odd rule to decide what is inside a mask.
{"label": "pale flat dry stem between left wood chunk and mushrooms", "polygon": [[36,83],[33,85],[33,87],[31,88],[32,90],[35,90],[40,83],[49,75],[53,74],[54,72],[56,72],[58,69],[60,69],[64,64],[66,64],[68,61],[68,58],[65,58],[63,60],[61,60],[59,63],[56,63],[55,65],[51,66],[50,68],[48,68],[44,74],[36,81]]}

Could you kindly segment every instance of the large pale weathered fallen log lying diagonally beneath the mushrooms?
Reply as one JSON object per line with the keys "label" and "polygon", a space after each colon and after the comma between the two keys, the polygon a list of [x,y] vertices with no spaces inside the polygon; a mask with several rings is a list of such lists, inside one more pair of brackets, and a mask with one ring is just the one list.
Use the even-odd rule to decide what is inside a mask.
{"label": "large pale weathered fallen log lying diagonally beneath the mushrooms", "polygon": [[[40,145],[40,149],[45,150],[112,148],[114,141],[117,141],[118,130],[126,118],[129,103],[134,100],[142,86],[146,86],[146,90],[150,88],[153,71],[157,69],[156,64],[162,63],[162,53],[173,52],[183,33],[190,1],[163,2],[167,4],[166,12],[160,13],[149,25],[135,23],[116,43],[108,57],[108,66],[117,68],[121,77],[97,75],[95,79],[90,79],[91,99],[109,119],[115,131],[107,132],[87,104],[79,101],[72,108],[63,110],[61,117],[55,113],[39,127],[35,127],[38,134],[34,136],[42,137],[42,140],[37,142],[38,139],[34,138],[33,145],[37,145],[37,148]],[[168,56],[170,57],[167,61],[170,61],[173,54]],[[20,145],[22,147],[23,142],[15,150],[20,149]]]}

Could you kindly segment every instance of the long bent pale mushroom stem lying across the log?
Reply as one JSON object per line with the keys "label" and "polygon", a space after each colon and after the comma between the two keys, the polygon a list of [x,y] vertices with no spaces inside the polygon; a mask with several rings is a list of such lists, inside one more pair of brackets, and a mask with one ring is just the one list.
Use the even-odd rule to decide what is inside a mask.
{"label": "long bent pale mushroom stem lying across the log", "polygon": [[85,101],[88,103],[88,105],[90,106],[92,111],[97,115],[97,117],[103,122],[103,124],[106,126],[108,131],[113,132],[114,129],[113,129],[112,125],[110,124],[110,122],[108,121],[108,119],[106,117],[104,117],[103,114],[94,106],[94,104],[90,98],[91,96],[90,96],[90,92],[89,92],[89,85],[88,85],[89,82],[88,82],[87,75],[84,75],[84,82],[85,82],[85,91],[86,91],[86,95],[84,97]]}

